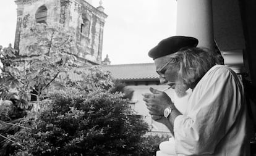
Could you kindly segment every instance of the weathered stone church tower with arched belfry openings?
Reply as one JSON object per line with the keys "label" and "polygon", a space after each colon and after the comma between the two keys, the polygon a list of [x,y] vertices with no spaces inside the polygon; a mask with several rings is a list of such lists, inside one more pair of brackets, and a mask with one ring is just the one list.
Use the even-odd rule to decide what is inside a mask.
{"label": "weathered stone church tower with arched belfry openings", "polygon": [[22,30],[27,17],[34,23],[61,23],[70,30],[75,39],[74,56],[78,65],[101,64],[103,28],[105,25],[104,8],[93,7],[92,0],[16,0],[17,28],[14,48],[20,51],[26,38]]}

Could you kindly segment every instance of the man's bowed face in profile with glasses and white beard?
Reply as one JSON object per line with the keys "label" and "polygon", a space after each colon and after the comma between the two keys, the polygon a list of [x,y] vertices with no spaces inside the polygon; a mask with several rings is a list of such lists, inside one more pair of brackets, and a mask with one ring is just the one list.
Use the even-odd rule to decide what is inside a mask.
{"label": "man's bowed face in profile with glasses and white beard", "polygon": [[186,91],[188,89],[186,84],[183,84],[181,80],[178,78],[178,70],[177,67],[173,67],[170,64],[167,64],[168,60],[166,58],[158,58],[155,59],[155,66],[158,73],[160,73],[160,83],[168,84],[171,88],[173,88],[178,97],[183,97],[186,95]]}

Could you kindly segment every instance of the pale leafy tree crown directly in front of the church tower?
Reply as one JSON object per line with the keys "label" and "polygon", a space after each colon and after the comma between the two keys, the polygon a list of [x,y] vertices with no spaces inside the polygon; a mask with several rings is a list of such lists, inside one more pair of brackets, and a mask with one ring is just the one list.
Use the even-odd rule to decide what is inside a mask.
{"label": "pale leafy tree crown directly in front of the church tower", "polygon": [[[68,77],[60,76],[73,68],[74,39],[62,25],[37,23],[22,33],[27,46],[22,55],[32,57],[20,69],[22,81],[28,92],[34,91],[37,99],[43,98],[51,86],[61,86]],[[22,91],[21,91],[22,92]]]}

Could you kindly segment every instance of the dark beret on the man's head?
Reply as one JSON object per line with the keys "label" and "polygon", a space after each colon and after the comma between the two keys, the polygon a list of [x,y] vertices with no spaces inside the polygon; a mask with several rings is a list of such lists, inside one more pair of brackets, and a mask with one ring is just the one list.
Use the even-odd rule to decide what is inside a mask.
{"label": "dark beret on the man's head", "polygon": [[198,40],[193,37],[171,36],[160,41],[157,46],[153,47],[153,49],[148,52],[148,55],[155,60],[158,57],[173,54],[181,49],[197,47],[197,44]]}

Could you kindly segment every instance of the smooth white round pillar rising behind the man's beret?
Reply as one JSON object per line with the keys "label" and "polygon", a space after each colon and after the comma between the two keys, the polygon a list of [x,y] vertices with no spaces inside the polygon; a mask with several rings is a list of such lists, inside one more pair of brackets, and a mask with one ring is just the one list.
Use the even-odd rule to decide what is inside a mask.
{"label": "smooth white round pillar rising behind the man's beret", "polygon": [[214,49],[211,0],[177,0],[177,35],[192,36],[199,47]]}

